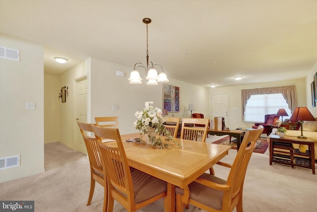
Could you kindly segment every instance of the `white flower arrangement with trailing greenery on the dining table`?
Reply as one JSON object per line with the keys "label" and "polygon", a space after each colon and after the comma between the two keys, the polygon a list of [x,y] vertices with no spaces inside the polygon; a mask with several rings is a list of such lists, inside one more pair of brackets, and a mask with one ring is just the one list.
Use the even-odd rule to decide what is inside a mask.
{"label": "white flower arrangement with trailing greenery on the dining table", "polygon": [[[150,138],[152,146],[160,146],[168,148],[170,143],[162,143],[160,136],[152,136],[149,133],[149,129],[155,129],[156,134],[164,134],[165,141],[171,141],[173,138],[170,136],[169,131],[167,131],[164,127],[164,122],[166,121],[164,117],[162,117],[162,110],[159,108],[155,108],[151,106],[153,102],[145,102],[145,108],[143,111],[135,112],[135,117],[137,120],[133,123],[135,129],[140,131],[140,140],[142,140],[142,133],[147,134]],[[175,141],[177,143],[177,141]],[[178,143],[177,143],[178,144]]]}

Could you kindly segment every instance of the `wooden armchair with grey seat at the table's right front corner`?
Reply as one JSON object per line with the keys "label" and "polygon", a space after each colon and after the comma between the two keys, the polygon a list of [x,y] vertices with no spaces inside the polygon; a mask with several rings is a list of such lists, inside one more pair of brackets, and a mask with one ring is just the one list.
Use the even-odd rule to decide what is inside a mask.
{"label": "wooden armchair with grey seat at the table's right front corner", "polygon": [[[237,212],[242,212],[244,179],[251,154],[262,132],[263,128],[259,128],[245,133],[232,165],[217,162],[219,165],[231,168],[227,180],[204,173],[188,185],[189,193],[176,187],[176,212],[183,212],[184,206],[188,203],[209,212],[232,212],[234,208]],[[189,198],[184,199],[185,196]]]}

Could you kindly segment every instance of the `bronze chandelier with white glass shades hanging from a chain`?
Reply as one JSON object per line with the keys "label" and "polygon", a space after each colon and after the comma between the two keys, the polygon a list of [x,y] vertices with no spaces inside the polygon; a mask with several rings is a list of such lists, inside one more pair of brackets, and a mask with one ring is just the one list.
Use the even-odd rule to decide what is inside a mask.
{"label": "bronze chandelier with white glass shades hanging from a chain", "polygon": [[[137,70],[140,67],[143,67],[145,69],[145,78],[148,80],[148,85],[157,85],[158,82],[168,82],[166,74],[163,71],[163,67],[161,67],[159,64],[153,64],[152,62],[149,63],[149,44],[148,44],[148,24],[151,23],[150,18],[143,18],[143,23],[147,24],[147,64],[144,66],[142,63],[136,63],[134,65],[134,69],[130,73],[130,80],[131,84],[141,84],[142,78],[140,77],[140,73]],[[159,66],[161,68],[161,72],[158,75],[158,71],[154,68],[154,66]]]}

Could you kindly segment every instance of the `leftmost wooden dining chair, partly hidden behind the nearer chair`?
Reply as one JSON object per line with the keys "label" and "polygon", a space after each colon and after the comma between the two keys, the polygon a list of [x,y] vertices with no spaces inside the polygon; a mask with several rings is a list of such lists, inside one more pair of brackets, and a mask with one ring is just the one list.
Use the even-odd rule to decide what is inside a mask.
{"label": "leftmost wooden dining chair, partly hidden behind the nearer chair", "polygon": [[[95,190],[95,183],[96,181],[105,187],[105,200],[104,200],[104,211],[106,210],[106,204],[107,204],[107,192],[106,192],[106,181],[104,177],[104,170],[103,165],[101,161],[101,157],[99,154],[99,145],[97,143],[97,139],[95,137],[90,137],[87,135],[87,132],[93,133],[92,124],[77,122],[81,135],[83,136],[83,139],[85,141],[85,145],[87,148],[87,154],[89,158],[89,164],[90,164],[90,192],[89,192],[89,198],[87,202],[87,206],[90,205],[91,200],[93,199],[94,190]],[[86,132],[86,134],[85,134]]]}

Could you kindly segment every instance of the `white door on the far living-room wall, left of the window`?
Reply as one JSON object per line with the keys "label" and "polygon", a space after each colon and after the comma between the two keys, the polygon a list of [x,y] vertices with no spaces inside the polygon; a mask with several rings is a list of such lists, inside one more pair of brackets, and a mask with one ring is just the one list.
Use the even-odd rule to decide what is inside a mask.
{"label": "white door on the far living-room wall, left of the window", "polygon": [[211,119],[224,117],[224,124],[229,127],[228,94],[211,95]]}

